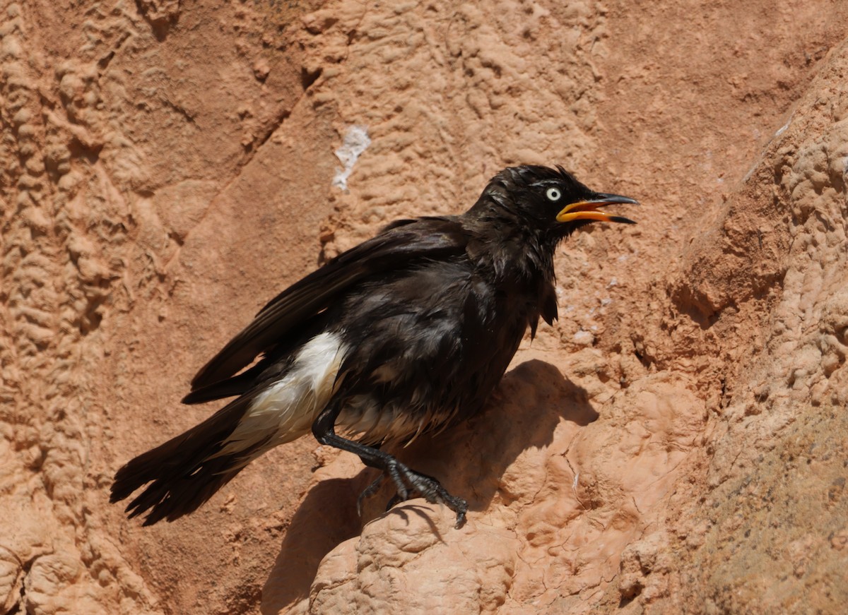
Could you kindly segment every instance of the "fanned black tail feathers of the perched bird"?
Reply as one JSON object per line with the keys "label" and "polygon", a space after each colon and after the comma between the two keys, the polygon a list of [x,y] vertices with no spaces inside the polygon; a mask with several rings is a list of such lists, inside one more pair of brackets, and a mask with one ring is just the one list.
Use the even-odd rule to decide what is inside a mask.
{"label": "fanned black tail feathers of the perched bird", "polygon": [[197,510],[255,456],[256,446],[222,452],[250,401],[250,396],[239,397],[203,423],[126,463],[114,475],[109,501],[123,500],[147,485],[126,507],[130,518],[149,510],[144,525]]}

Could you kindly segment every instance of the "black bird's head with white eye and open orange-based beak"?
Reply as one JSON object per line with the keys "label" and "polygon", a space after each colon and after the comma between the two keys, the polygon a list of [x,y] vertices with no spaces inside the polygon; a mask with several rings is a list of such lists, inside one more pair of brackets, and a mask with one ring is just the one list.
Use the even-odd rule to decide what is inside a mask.
{"label": "black bird's head with white eye and open orange-based beak", "polygon": [[637,205],[629,197],[595,192],[561,166],[556,169],[525,165],[504,169],[486,186],[471,211],[499,218],[516,217],[528,230],[559,241],[590,222],[635,224],[623,216],[601,211],[616,203]]}

